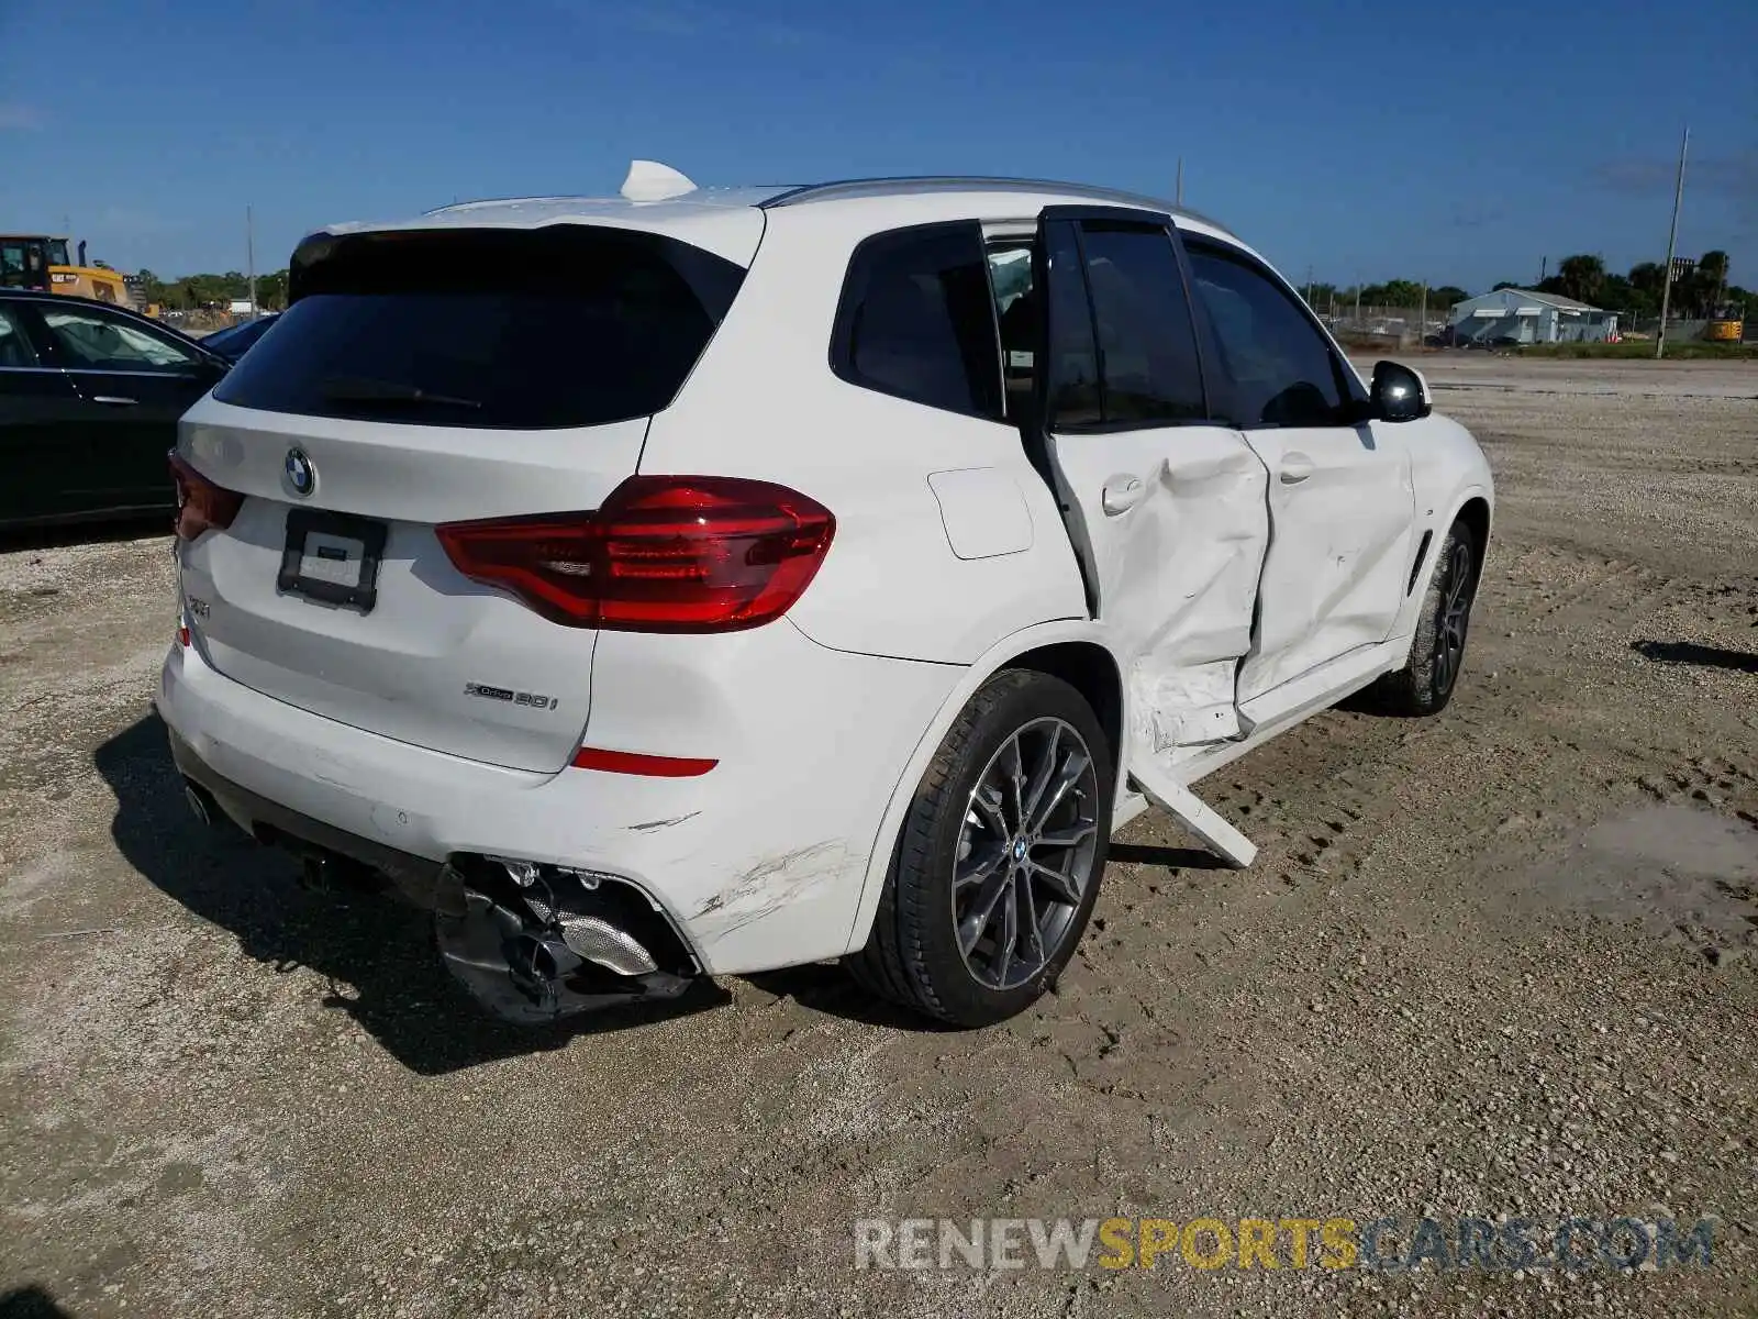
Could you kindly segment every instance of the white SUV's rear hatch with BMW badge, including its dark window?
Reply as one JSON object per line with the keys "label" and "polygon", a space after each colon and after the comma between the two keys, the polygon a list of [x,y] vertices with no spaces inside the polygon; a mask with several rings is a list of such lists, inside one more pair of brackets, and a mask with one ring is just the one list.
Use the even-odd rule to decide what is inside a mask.
{"label": "white SUV's rear hatch with BMW badge, including its dark window", "polygon": [[308,239],[274,334],[179,427],[206,660],[355,728],[563,767],[596,633],[471,580],[436,528],[598,510],[742,276],[577,223]]}

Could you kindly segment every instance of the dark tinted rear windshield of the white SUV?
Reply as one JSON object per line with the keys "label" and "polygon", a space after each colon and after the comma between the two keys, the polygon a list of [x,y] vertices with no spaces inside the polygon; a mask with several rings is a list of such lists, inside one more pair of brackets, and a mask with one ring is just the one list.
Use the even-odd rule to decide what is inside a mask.
{"label": "dark tinted rear windshield of the white SUV", "polygon": [[306,417],[552,429],[672,403],[744,269],[585,225],[315,236],[292,304],[214,390]]}

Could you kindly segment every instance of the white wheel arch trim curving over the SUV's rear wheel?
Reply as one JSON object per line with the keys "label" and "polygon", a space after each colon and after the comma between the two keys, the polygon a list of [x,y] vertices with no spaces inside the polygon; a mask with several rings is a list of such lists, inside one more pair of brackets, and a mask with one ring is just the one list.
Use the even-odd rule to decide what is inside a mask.
{"label": "white wheel arch trim curving over the SUV's rear wheel", "polygon": [[861,897],[854,911],[854,923],[849,927],[846,951],[856,951],[867,943],[886,871],[891,867],[891,853],[897,848],[898,832],[904,828],[904,814],[914,800],[921,776],[928,770],[928,762],[933,760],[946,732],[976,691],[995,674],[1009,668],[1050,674],[1079,691],[1099,718],[1099,726],[1111,739],[1116,784],[1123,783],[1123,675],[1116,656],[1104,644],[1095,624],[1088,619],[1041,623],[997,642],[970,665],[963,679],[941,703],[891,788],[891,798],[886,802],[879,832],[874,835],[867,856],[867,874],[861,879]]}

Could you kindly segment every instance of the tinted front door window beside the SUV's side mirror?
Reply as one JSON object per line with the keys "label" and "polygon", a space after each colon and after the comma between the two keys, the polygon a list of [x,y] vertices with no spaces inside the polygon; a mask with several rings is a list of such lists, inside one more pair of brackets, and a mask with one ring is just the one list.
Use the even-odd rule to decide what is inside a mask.
{"label": "tinted front door window beside the SUV's side mirror", "polygon": [[1294,297],[1245,257],[1187,241],[1197,297],[1234,383],[1239,426],[1345,426],[1331,345]]}

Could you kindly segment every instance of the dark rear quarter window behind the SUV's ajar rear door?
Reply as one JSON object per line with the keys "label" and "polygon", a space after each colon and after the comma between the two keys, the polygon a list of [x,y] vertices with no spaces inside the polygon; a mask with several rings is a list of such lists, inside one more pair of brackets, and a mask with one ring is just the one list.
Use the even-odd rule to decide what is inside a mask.
{"label": "dark rear quarter window behind the SUV's ajar rear door", "polygon": [[851,385],[1000,420],[981,227],[925,225],[861,243],[842,285],[830,364]]}

